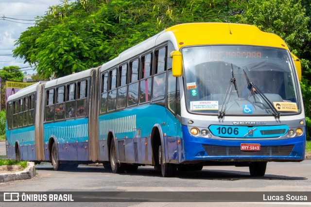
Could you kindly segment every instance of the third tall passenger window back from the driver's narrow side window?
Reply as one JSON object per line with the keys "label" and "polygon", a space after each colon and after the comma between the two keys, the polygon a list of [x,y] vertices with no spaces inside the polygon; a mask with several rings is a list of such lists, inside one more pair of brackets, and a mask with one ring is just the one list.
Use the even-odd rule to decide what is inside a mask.
{"label": "third tall passenger window back from the driver's narrow side window", "polygon": [[128,100],[127,105],[138,104],[138,70],[139,70],[139,59],[130,62],[130,84],[128,85]]}

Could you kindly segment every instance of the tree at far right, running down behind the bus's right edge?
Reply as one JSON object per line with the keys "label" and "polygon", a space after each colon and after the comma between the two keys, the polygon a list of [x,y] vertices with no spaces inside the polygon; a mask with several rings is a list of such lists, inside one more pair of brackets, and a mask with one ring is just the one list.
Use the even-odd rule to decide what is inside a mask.
{"label": "tree at far right, running down behind the bus's right edge", "polygon": [[[303,5],[308,7],[306,0]],[[306,11],[308,15],[306,15]],[[301,1],[250,0],[244,15],[238,15],[241,23],[253,24],[260,30],[279,35],[290,50],[301,58],[302,81],[300,83],[307,121],[307,133],[311,134],[311,33],[310,2],[306,10]],[[309,137],[309,136],[307,136]]]}

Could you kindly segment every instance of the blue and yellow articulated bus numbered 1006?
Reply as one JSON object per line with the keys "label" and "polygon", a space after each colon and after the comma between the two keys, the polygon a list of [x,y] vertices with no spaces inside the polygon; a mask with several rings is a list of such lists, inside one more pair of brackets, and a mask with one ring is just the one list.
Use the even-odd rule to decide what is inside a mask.
{"label": "blue and yellow articulated bus numbered 1006", "polygon": [[6,151],[54,170],[100,162],[162,176],[203,166],[304,160],[301,67],[257,27],[180,24],[101,67],[37,83],[7,101]]}

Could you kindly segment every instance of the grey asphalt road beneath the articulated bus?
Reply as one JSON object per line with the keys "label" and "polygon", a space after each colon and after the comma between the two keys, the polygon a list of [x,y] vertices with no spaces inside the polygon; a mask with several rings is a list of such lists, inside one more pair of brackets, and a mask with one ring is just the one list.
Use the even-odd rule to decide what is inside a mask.
{"label": "grey asphalt road beneath the articulated bus", "polygon": [[[161,177],[160,173],[155,172],[151,166],[139,167],[138,173],[128,174],[110,173],[102,165],[99,167],[80,165],[74,171],[62,172],[53,171],[50,163],[42,163],[36,165],[36,170],[35,178],[1,183],[0,191],[220,191],[220,193],[223,193],[222,191],[311,191],[311,160],[300,163],[270,162],[264,177],[251,177],[247,167],[233,166],[206,166],[200,172],[178,173],[173,178]],[[17,203],[17,206],[19,204],[22,206],[22,203]],[[45,203],[49,206],[52,204]],[[169,202],[108,204],[104,206],[180,206]],[[203,204],[196,203],[195,206],[204,206]],[[74,203],[74,206],[85,205],[103,206],[100,203]],[[189,205],[190,203],[184,203],[182,206]],[[240,207],[253,204],[233,203],[230,206],[232,205]],[[260,206],[270,205],[260,204]],[[224,206],[224,203],[213,203],[212,206]],[[286,206],[291,205],[287,203]]]}

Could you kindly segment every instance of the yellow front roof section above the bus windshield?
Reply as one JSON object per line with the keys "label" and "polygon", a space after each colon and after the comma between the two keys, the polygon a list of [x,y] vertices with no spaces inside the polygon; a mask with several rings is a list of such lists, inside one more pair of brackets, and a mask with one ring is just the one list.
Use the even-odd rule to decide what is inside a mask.
{"label": "yellow front roof section above the bus windshield", "polygon": [[187,23],[170,27],[179,49],[190,45],[256,45],[289,50],[277,35],[260,31],[257,27],[234,23]]}

